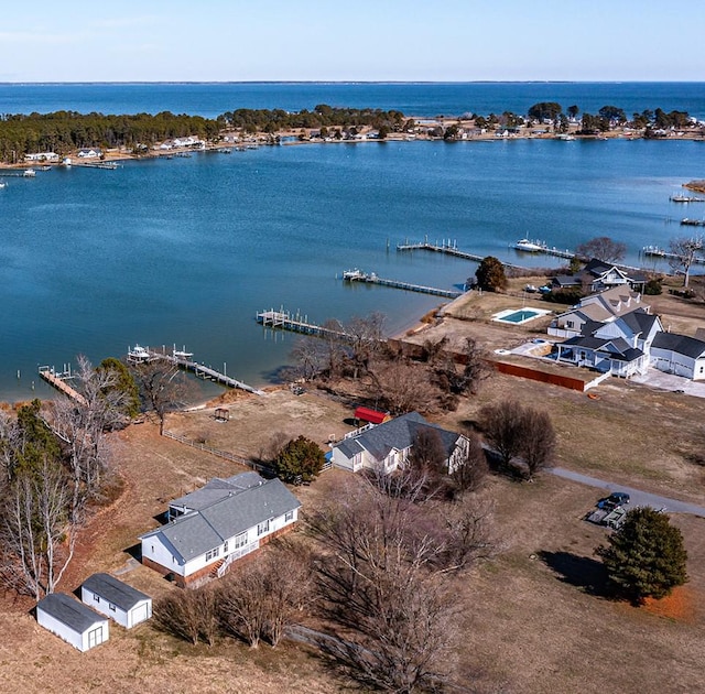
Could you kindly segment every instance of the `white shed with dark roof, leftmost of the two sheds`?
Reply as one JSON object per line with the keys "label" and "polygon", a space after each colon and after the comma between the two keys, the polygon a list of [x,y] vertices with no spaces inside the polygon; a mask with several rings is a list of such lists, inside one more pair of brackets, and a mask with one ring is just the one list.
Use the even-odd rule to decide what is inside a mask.
{"label": "white shed with dark roof, leftmost of the two sheds", "polygon": [[79,651],[110,637],[109,620],[65,593],[52,593],[36,605],[36,621]]}

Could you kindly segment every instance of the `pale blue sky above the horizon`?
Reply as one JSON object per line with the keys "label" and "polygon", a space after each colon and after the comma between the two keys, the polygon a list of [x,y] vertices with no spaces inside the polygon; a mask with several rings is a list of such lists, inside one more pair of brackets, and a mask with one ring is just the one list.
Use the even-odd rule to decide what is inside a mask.
{"label": "pale blue sky above the horizon", "polygon": [[705,82],[705,2],[25,0],[0,82]]}

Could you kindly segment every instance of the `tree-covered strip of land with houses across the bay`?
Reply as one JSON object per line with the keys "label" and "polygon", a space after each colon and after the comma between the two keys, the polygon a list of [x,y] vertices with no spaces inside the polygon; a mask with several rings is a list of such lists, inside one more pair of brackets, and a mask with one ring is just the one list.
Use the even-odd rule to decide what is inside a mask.
{"label": "tree-covered strip of land with houses across the bay", "polygon": [[[464,113],[457,117],[437,116],[427,126],[425,134],[445,140],[456,139],[463,127],[492,132],[500,128],[518,131],[546,127],[551,132],[575,132],[597,135],[618,128],[630,128],[646,138],[664,137],[669,130],[697,130],[702,123],[686,111],[665,112],[660,108],[643,110],[627,117],[616,106],[605,106],[596,115],[583,112],[577,106],[565,111],[560,104],[544,101],[533,105],[525,116],[511,111],[502,113]],[[217,142],[228,130],[248,134],[263,133],[274,137],[282,132],[317,130],[321,137],[340,139],[355,134],[360,128],[373,129],[380,139],[389,133],[416,133],[420,124],[399,110],[373,108],[336,108],[325,104],[313,110],[286,111],[283,109],[236,109],[217,118],[175,115],[162,111],[156,115],[104,115],[98,112],[55,111],[52,113],[10,115],[0,117],[0,161],[20,163],[35,152],[55,152],[66,155],[83,148],[119,148],[139,154],[156,143],[173,138],[196,135],[207,142]],[[524,130],[528,134],[530,130]]]}

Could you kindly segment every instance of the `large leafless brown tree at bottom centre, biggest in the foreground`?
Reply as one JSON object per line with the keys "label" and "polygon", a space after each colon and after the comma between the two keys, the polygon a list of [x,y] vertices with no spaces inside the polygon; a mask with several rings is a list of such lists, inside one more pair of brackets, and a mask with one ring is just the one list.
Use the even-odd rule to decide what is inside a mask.
{"label": "large leafless brown tree at bottom centre, biggest in the foreground", "polygon": [[361,482],[307,517],[324,547],[322,609],[337,627],[321,646],[367,685],[413,692],[448,677],[454,601],[438,566],[454,557],[453,533],[424,509]]}

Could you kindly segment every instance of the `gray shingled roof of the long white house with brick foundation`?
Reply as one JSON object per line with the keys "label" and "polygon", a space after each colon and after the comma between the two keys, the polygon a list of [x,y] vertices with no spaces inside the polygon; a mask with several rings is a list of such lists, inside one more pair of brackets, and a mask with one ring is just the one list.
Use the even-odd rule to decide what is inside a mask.
{"label": "gray shingled roof of the long white house with brick foundation", "polygon": [[140,539],[161,535],[174,555],[187,562],[258,523],[283,516],[301,506],[280,479],[259,479],[261,484],[258,486],[225,497],[207,508],[180,516],[166,525],[144,533]]}

